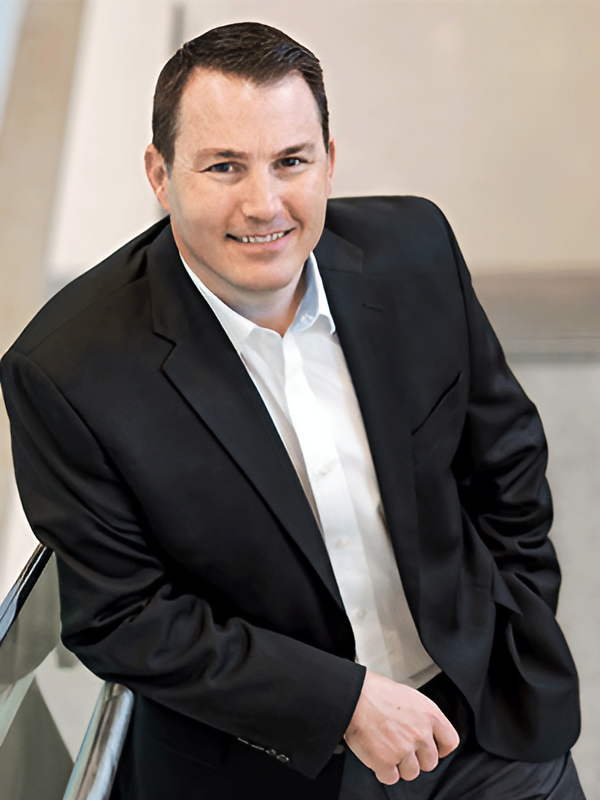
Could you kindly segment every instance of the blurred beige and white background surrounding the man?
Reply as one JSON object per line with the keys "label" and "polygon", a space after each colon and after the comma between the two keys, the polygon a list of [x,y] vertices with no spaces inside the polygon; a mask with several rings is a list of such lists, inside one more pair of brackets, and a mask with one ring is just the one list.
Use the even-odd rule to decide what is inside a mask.
{"label": "blurred beige and white background surrounding the man", "polygon": [[[442,207],[540,409],[582,682],[575,759],[600,800],[600,0],[0,0],[0,351],[159,217],[142,154],[160,68],[244,19],[321,58],[335,195]],[[9,453],[2,410],[0,599],[35,547]]]}

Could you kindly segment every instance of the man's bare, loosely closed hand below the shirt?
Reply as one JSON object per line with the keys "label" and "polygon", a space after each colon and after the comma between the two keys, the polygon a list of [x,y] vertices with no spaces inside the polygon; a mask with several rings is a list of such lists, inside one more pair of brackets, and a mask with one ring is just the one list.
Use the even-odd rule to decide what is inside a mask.
{"label": "man's bare, loosely closed hand below the shirt", "polygon": [[460,741],[432,700],[370,670],[344,739],[386,784],[431,772]]}

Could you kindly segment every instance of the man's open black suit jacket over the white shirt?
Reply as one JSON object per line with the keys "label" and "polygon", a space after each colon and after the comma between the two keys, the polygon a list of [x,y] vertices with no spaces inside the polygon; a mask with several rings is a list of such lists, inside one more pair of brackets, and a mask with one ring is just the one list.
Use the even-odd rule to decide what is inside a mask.
{"label": "man's open black suit jacket over the white shirt", "polygon": [[[333,200],[316,257],[423,644],[484,748],[553,758],[579,718],[535,407],[433,204]],[[153,741],[214,774],[237,753],[245,781],[291,797],[331,772],[364,669],[294,468],[168,221],[54,297],[2,380],[67,646],[145,698],[137,729],[154,714]],[[324,780],[311,796],[335,796]]]}

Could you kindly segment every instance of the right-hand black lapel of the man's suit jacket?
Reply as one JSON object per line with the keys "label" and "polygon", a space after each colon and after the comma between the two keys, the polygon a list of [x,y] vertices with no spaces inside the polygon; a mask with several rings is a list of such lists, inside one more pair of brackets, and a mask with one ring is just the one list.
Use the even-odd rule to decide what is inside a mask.
{"label": "right-hand black lapel of the man's suit jacket", "polygon": [[365,276],[362,251],[325,230],[315,249],[362,411],[386,521],[411,611],[418,617],[419,552],[406,412],[406,324],[394,287]]}

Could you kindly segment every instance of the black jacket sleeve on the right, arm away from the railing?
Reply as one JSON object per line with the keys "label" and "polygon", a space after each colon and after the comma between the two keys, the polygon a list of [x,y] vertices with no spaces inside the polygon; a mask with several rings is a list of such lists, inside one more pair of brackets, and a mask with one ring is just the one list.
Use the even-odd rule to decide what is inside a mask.
{"label": "black jacket sleeve on the right, arm away from the railing", "polygon": [[[455,461],[463,508],[498,569],[499,598],[527,601],[531,592],[556,611],[560,570],[548,532],[552,499],[548,449],[535,405],[506,363],[473,290],[454,234],[444,220],[457,264],[469,335],[466,422]],[[502,585],[504,584],[504,585]]]}

